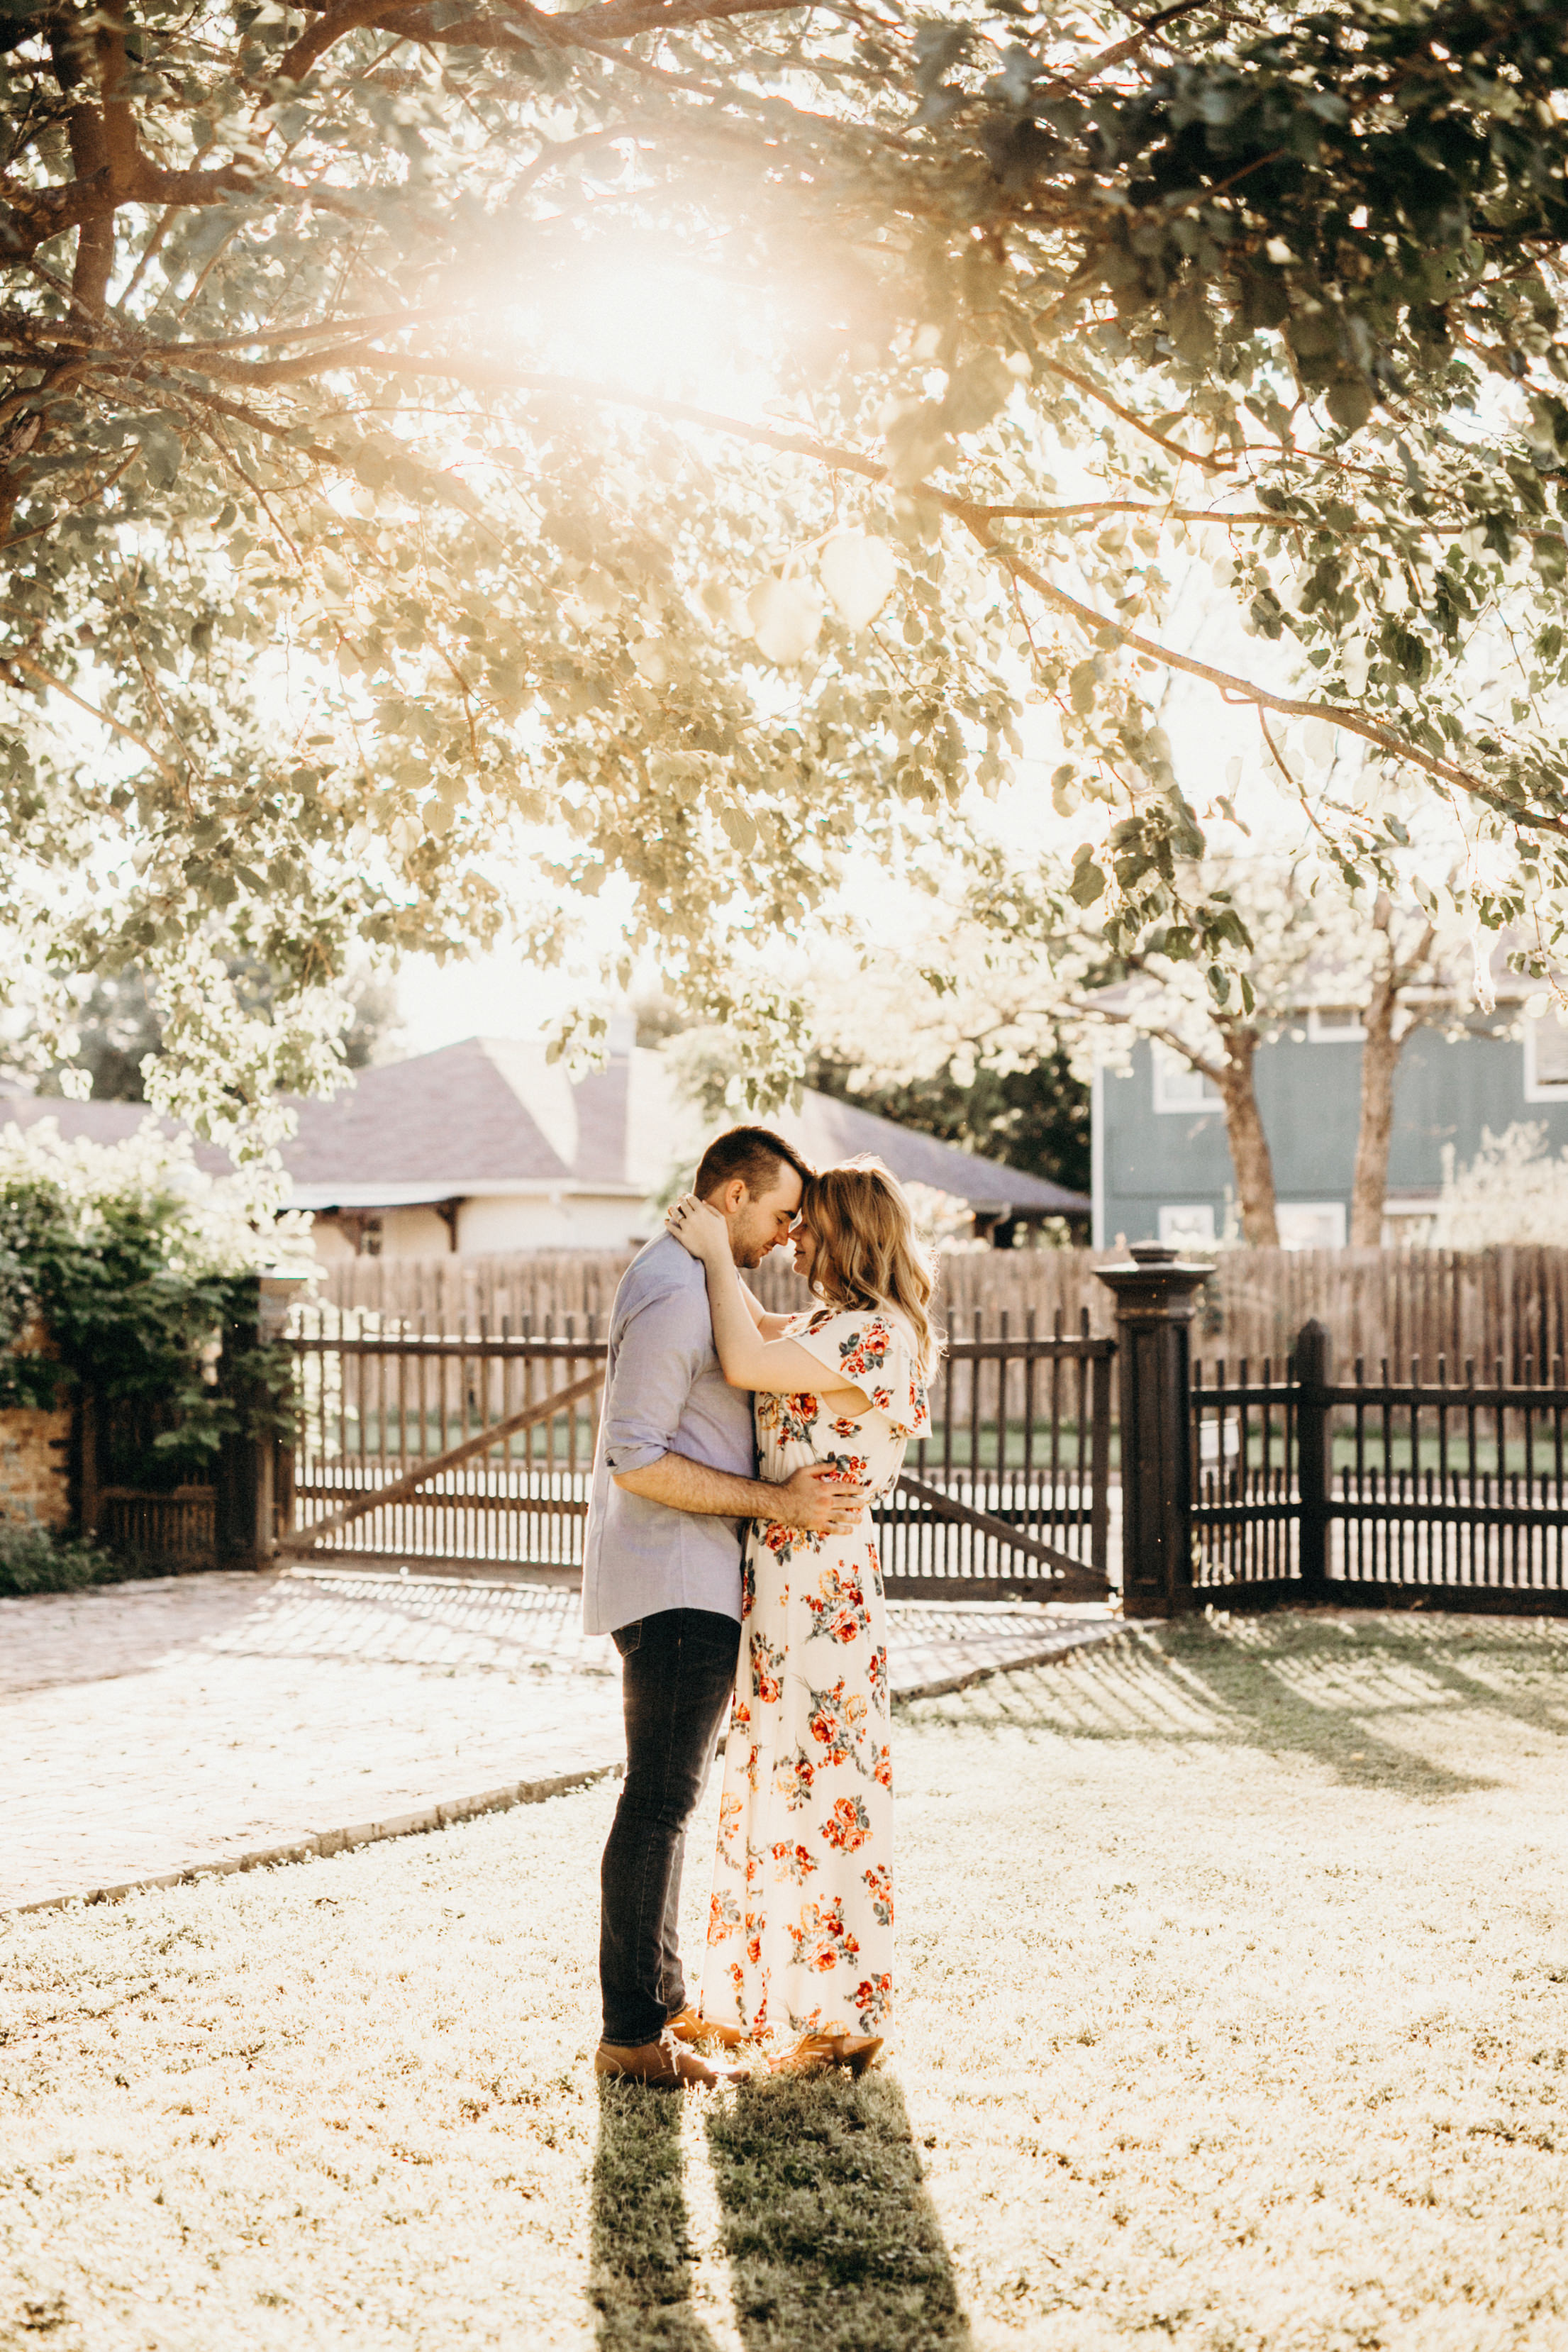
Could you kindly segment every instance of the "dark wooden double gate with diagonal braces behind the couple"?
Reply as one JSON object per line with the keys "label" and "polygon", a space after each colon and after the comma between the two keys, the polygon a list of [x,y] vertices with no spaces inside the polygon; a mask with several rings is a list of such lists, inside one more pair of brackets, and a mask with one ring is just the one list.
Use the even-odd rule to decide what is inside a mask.
{"label": "dark wooden double gate with diagonal braces behind the couple", "polygon": [[[597,1317],[543,1331],[407,1329],[313,1305],[292,1338],[299,1437],[284,1552],[576,1583],[597,1439]],[[1114,1341],[973,1317],[931,1437],[877,1510],[886,1590],[1103,1599]]]}

